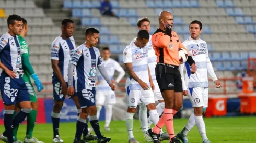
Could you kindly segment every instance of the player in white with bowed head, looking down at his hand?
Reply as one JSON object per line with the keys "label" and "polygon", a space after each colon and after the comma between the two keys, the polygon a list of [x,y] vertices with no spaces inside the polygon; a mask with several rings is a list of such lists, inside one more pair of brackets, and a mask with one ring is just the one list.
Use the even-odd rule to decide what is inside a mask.
{"label": "player in white with bowed head, looking down at his hand", "polygon": [[146,105],[155,124],[159,120],[153,93],[154,84],[148,67],[148,42],[148,31],[140,30],[136,41],[126,46],[123,52],[125,68],[130,76],[125,84],[128,95],[126,127],[130,143],[138,142],[133,136],[133,116],[138,104]]}

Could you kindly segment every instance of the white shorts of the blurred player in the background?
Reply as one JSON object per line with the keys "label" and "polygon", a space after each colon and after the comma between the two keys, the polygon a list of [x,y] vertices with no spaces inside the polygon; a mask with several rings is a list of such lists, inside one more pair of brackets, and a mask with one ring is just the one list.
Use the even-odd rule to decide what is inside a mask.
{"label": "white shorts of the blurred player in the background", "polygon": [[96,105],[114,105],[116,103],[115,93],[111,90],[96,92]]}

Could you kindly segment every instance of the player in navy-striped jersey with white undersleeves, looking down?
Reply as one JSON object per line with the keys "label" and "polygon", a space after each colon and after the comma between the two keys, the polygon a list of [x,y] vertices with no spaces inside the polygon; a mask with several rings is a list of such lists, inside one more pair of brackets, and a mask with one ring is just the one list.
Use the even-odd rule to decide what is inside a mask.
{"label": "player in navy-striped jersey with white undersleeves, looking down", "polygon": [[[81,141],[81,135],[87,125],[87,116],[90,115],[90,123],[97,135],[98,143],[109,142],[111,138],[104,137],[100,133],[99,121],[97,118],[97,108],[95,105],[96,93],[96,67],[107,81],[112,90],[115,85],[109,79],[107,71],[101,62],[99,49],[95,46],[99,40],[99,31],[95,28],[87,28],[85,32],[86,42],[77,47],[68,65],[68,95],[76,92],[81,106],[81,113],[76,123],[76,135],[74,143],[86,142]],[[73,71],[77,70],[77,80],[75,89],[73,85]]]}

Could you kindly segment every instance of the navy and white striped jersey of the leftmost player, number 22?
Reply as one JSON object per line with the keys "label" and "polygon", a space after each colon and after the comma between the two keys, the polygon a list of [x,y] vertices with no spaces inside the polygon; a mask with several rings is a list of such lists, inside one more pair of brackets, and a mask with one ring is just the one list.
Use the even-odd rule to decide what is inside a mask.
{"label": "navy and white striped jersey of the leftmost player, number 22", "polygon": [[0,37],[0,60],[9,70],[16,73],[16,78],[22,77],[23,70],[18,36],[5,33]]}

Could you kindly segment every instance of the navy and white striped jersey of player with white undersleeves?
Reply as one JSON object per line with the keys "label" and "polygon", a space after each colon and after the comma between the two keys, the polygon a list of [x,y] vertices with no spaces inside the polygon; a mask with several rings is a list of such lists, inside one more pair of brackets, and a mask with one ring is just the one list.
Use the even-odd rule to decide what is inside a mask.
{"label": "navy and white striped jersey of player with white undersleeves", "polygon": [[82,44],[75,50],[70,63],[76,66],[76,92],[84,89],[95,90],[96,67],[102,64],[99,49],[96,47],[88,48],[85,44]]}

